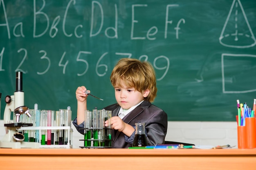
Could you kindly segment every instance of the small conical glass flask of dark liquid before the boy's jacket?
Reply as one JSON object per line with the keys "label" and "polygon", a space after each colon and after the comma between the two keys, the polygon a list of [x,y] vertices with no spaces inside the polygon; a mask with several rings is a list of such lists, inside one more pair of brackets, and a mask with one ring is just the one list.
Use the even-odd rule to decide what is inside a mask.
{"label": "small conical glass flask of dark liquid before the boy's jacket", "polygon": [[145,123],[135,123],[135,137],[132,147],[144,147],[148,145],[145,134]]}

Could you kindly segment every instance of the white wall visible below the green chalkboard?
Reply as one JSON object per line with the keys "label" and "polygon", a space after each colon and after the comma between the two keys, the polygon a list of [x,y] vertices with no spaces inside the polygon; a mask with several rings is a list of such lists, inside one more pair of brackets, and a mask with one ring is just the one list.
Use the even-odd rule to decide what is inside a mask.
{"label": "white wall visible below the green chalkboard", "polygon": [[[236,122],[168,122],[167,141],[184,142],[195,145],[236,145]],[[83,135],[72,124],[73,148],[83,146]],[[4,122],[0,120],[0,139],[5,134]]]}

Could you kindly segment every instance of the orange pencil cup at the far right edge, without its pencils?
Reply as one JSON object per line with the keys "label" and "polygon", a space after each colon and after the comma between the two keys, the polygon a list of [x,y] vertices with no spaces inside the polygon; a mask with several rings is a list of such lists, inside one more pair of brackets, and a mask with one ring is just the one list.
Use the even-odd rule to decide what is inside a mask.
{"label": "orange pencil cup at the far right edge, without its pencils", "polygon": [[255,118],[245,118],[245,129],[247,136],[247,148],[256,148]]}

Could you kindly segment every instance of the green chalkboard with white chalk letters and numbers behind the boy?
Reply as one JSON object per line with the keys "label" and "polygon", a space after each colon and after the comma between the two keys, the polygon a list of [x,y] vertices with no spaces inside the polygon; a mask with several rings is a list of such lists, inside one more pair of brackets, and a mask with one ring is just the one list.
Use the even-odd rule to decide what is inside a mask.
{"label": "green chalkboard with white chalk letters and numbers behind the boy", "polygon": [[120,58],[150,61],[153,104],[169,121],[235,121],[236,100],[256,98],[254,0],[0,0],[1,119],[23,72],[25,105],[76,117],[115,103],[110,73]]}

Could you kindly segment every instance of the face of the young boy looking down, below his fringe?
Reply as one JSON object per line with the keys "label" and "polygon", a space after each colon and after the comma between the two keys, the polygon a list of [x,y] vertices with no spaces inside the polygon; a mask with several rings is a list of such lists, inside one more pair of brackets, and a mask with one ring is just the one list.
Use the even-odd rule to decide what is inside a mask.
{"label": "face of the young boy looking down, below his fringe", "polygon": [[139,91],[135,91],[135,88],[133,87],[126,87],[122,82],[121,84],[122,87],[115,87],[115,97],[117,103],[123,109],[130,109],[132,106],[137,105],[149,94],[149,90],[141,93]]}

